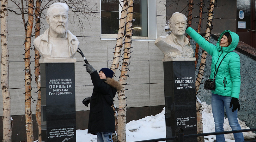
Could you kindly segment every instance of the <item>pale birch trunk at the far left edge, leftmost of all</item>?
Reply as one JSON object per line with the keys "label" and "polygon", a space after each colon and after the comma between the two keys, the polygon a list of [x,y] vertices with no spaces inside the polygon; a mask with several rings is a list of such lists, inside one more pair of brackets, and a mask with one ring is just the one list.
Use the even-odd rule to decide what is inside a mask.
{"label": "pale birch trunk at the far left edge, leftmost of all", "polygon": [[3,142],[12,141],[11,96],[9,92],[8,0],[1,0],[1,87],[3,95]]}

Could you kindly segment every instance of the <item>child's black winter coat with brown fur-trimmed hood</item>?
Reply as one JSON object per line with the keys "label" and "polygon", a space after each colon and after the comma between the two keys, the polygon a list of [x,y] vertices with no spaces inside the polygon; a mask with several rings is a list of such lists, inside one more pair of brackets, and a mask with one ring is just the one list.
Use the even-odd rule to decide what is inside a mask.
{"label": "child's black winter coat with brown fur-trimmed hood", "polygon": [[100,79],[97,71],[91,74],[93,93],[90,99],[88,133],[115,132],[113,98],[122,86],[112,78]]}

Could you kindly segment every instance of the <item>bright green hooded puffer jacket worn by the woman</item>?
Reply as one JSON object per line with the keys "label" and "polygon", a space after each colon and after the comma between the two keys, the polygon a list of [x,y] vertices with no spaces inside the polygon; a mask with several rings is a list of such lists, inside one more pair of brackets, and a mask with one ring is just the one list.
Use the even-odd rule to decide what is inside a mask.
{"label": "bright green hooded puffer jacket worn by the woman", "polygon": [[[232,38],[232,42],[228,47],[220,47],[220,39],[224,33],[229,32]],[[214,79],[214,73],[217,70],[221,60],[218,72],[215,77],[215,90],[211,92],[214,94],[228,96],[233,98],[239,98],[241,75],[240,75],[240,57],[237,53],[231,52],[235,50],[239,36],[229,30],[225,30],[221,33],[218,42],[215,45],[209,43],[200,34],[198,34],[191,27],[186,29],[186,33],[195,40],[206,52],[211,56],[211,74],[209,79]]]}

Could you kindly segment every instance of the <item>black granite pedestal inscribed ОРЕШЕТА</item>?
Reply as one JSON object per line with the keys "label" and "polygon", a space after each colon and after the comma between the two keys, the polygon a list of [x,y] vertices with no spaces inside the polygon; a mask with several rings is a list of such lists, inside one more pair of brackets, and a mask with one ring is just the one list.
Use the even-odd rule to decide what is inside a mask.
{"label": "black granite pedestal inscribed \u041e\u0420\u0415\u0428\u0415\u0422\u0410", "polygon": [[40,70],[47,142],[76,142],[75,64],[40,63]]}

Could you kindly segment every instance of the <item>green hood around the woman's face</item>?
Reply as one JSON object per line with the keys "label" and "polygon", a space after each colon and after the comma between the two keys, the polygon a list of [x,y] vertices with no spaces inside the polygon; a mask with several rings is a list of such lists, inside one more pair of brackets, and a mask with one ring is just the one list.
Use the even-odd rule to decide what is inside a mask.
{"label": "green hood around the woman's face", "polygon": [[224,33],[227,33],[227,32],[229,32],[229,34],[230,34],[230,36],[231,36],[231,38],[232,38],[232,42],[231,42],[231,44],[230,44],[228,47],[222,47],[222,50],[223,50],[224,52],[230,52],[230,51],[235,50],[235,48],[236,48],[236,46],[237,46],[237,44],[238,44],[238,42],[239,42],[239,36],[238,36],[236,33],[231,32],[231,31],[229,31],[229,30],[225,30],[225,31],[223,31],[223,32],[220,34],[220,37],[219,37],[218,42],[217,42],[217,44],[216,44],[216,46],[217,46],[217,48],[218,48],[219,51],[221,50],[221,47],[220,47],[220,40],[221,40],[222,36],[224,35]]}

